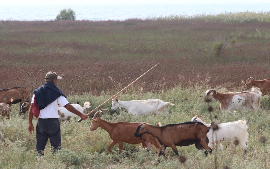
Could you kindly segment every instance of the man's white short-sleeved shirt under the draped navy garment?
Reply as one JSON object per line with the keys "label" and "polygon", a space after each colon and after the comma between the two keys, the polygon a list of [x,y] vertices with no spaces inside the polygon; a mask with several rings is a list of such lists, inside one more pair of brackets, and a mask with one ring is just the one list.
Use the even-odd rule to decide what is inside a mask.
{"label": "man's white short-sleeved shirt under the draped navy garment", "polygon": [[[33,95],[31,103],[34,103],[34,101],[35,101],[34,97],[35,97],[35,94]],[[46,106],[44,109],[40,110],[40,114],[39,114],[38,118],[41,118],[41,119],[59,118],[58,111],[57,111],[58,104],[60,104],[61,107],[64,107],[68,103],[69,102],[67,101],[67,99],[61,95],[55,101],[53,101],[51,104]]]}

